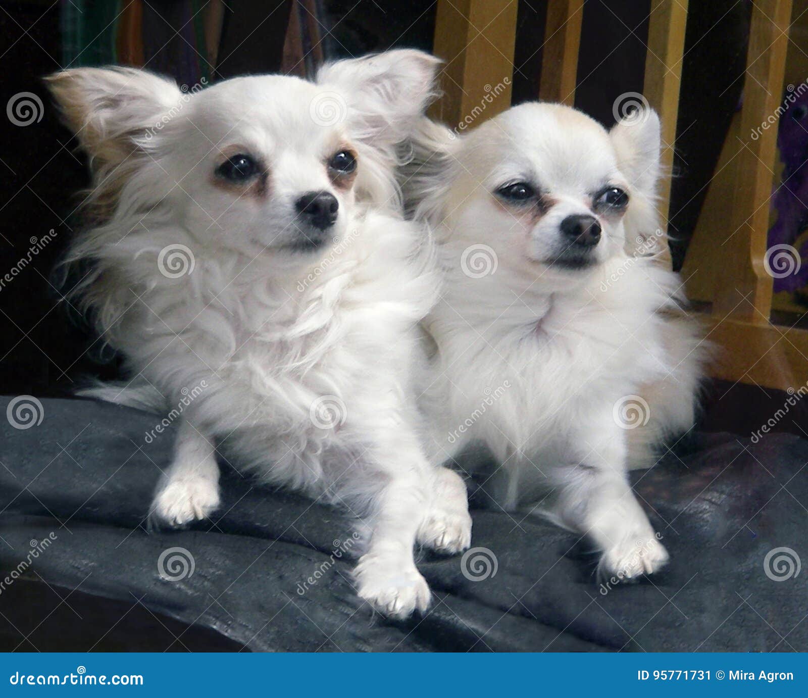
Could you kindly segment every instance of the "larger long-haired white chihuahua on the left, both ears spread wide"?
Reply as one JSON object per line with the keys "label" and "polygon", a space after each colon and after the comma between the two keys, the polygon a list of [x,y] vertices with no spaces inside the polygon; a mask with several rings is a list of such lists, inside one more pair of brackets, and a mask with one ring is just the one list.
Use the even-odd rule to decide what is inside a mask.
{"label": "larger long-haired white chihuahua on the left, both ears spread wide", "polygon": [[94,174],[93,225],[68,262],[89,267],[78,293],[133,375],[95,392],[183,405],[153,515],[213,512],[217,452],[342,503],[371,530],[358,592],[391,616],[429,602],[416,539],[456,552],[470,536],[468,513],[445,516],[431,495],[459,478],[419,443],[415,327],[439,276],[398,213],[394,171],[436,63],[393,51],[326,65],[316,82],[191,93],[136,69],[50,78]]}

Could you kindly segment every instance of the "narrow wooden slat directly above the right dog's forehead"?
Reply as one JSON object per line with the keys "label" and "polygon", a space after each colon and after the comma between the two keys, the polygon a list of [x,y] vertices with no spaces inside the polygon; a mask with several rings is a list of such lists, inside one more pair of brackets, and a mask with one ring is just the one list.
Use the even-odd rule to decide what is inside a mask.
{"label": "narrow wooden slat directly above the right dog's forehead", "polygon": [[583,0],[547,3],[539,99],[574,106]]}

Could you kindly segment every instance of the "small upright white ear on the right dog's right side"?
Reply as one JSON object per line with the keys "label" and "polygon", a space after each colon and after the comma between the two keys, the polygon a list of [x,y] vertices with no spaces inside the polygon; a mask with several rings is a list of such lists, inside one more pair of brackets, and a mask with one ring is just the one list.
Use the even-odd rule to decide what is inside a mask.
{"label": "small upright white ear on the right dog's right side", "polygon": [[653,109],[633,111],[609,132],[617,165],[631,186],[654,196],[659,179],[659,116]]}

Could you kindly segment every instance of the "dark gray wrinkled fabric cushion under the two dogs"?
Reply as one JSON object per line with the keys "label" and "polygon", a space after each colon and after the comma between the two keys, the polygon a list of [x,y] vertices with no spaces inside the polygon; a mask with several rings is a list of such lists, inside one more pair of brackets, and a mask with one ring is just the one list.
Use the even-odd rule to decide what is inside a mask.
{"label": "dark gray wrinkled fabric cushion under the two dogs", "polygon": [[[9,400],[0,399],[2,414]],[[154,415],[78,399],[41,405],[41,423],[27,429],[0,418],[3,570],[53,532],[32,563],[49,584],[134,595],[251,650],[808,650],[808,623],[799,623],[808,574],[774,581],[777,570],[764,569],[776,548],[808,559],[808,442],[793,435],[759,444],[700,435],[690,452],[633,473],[671,553],[652,578],[600,586],[596,556],[579,536],[532,516],[475,510],[473,546],[495,558],[495,574],[482,559],[469,567],[469,558],[423,554],[432,608],[389,623],[354,595],[349,554],[331,557],[354,530],[347,515],[223,465],[213,519],[148,532],[171,430],[149,444]],[[172,548],[193,558],[193,574],[166,556],[164,572],[181,578],[159,574]]]}

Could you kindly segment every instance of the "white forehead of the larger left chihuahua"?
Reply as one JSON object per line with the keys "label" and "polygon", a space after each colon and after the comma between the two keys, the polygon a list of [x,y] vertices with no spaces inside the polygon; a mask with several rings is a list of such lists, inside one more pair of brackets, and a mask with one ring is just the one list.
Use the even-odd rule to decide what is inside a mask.
{"label": "white forehead of the larger left chihuahua", "polygon": [[318,120],[314,111],[323,99],[322,88],[300,78],[234,78],[196,96],[190,119],[212,141],[246,137],[274,145],[312,147],[339,130],[339,124]]}

